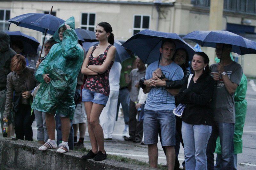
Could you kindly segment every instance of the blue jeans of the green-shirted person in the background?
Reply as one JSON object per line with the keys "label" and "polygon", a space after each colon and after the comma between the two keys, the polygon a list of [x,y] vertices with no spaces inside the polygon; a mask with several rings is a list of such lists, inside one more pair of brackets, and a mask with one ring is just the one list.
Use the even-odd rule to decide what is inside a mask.
{"label": "blue jeans of the green-shirted person in the background", "polygon": [[117,110],[116,110],[116,121],[118,118],[120,103],[122,105],[123,112],[124,112],[124,123],[128,123],[129,122],[129,104],[130,104],[130,92],[128,91],[128,89],[119,90]]}

